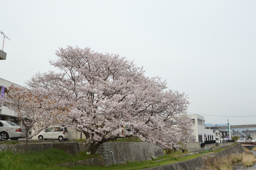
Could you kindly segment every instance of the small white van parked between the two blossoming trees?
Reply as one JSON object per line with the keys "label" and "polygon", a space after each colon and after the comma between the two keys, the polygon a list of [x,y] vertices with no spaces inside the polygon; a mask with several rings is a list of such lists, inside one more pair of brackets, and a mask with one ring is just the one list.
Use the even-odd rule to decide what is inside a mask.
{"label": "small white van parked between the two blossoming trees", "polygon": [[61,126],[48,127],[38,134],[39,140],[58,139],[59,141],[68,139],[68,128]]}

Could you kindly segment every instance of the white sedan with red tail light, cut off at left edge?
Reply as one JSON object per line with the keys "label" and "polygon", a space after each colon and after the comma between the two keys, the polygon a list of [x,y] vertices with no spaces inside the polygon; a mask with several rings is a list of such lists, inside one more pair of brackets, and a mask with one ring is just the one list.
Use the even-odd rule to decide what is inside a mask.
{"label": "white sedan with red tail light, cut off at left edge", "polygon": [[0,120],[0,141],[4,140],[17,140],[26,137],[21,127],[16,123]]}

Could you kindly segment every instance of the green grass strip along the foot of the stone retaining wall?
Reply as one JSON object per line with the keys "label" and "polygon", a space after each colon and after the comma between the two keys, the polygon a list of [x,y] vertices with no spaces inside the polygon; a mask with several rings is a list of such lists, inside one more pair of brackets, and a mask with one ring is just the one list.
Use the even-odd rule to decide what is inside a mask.
{"label": "green grass strip along the foot of the stone retaining wall", "polygon": [[[192,158],[199,157],[199,154],[188,155],[185,157],[176,158],[174,156],[179,155],[179,151],[176,154],[164,155],[154,160],[142,161],[142,162],[127,162],[126,164],[118,164],[111,166],[74,166],[74,167],[60,167],[57,164],[75,162],[83,160],[85,158],[92,158],[92,155],[87,155],[86,152],[77,153],[76,156],[68,155],[66,152],[59,149],[50,149],[41,152],[29,152],[13,153],[12,151],[0,152],[0,169],[12,169],[12,170],[26,170],[26,169],[50,169],[50,170],[65,170],[65,169],[143,169],[154,166],[168,165]],[[95,155],[97,156],[97,155]],[[163,159],[163,160],[161,160]],[[156,160],[161,160],[155,162]]]}

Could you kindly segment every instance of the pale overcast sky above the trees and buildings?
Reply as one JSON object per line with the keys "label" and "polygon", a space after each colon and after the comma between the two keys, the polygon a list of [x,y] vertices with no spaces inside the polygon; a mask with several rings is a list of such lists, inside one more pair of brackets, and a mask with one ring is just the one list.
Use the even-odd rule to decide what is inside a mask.
{"label": "pale overcast sky above the trees and buildings", "polygon": [[166,79],[205,123],[256,124],[255,9],[256,1],[234,0],[0,0],[0,30],[11,39],[0,78],[24,85],[55,69],[59,47],[91,47]]}

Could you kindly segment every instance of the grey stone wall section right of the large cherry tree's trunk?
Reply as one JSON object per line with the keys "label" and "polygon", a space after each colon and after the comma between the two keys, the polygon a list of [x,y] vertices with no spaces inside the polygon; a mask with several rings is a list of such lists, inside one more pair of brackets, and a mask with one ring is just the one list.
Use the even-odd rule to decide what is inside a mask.
{"label": "grey stone wall section right of the large cherry tree's trunk", "polygon": [[116,164],[125,164],[127,161],[151,160],[164,155],[162,148],[149,142],[106,142],[100,145],[96,153],[106,165],[112,165],[114,161]]}

